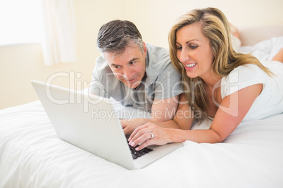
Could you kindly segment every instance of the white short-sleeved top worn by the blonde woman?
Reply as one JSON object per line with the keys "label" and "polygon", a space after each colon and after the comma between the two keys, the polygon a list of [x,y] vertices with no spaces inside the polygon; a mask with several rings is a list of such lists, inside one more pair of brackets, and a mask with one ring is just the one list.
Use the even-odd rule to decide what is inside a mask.
{"label": "white short-sleeved top worn by the blonde woman", "polygon": [[256,65],[243,65],[235,68],[221,79],[221,97],[225,98],[237,90],[263,83],[263,90],[256,98],[243,121],[265,119],[283,113],[283,63],[264,62],[275,76],[268,76]]}

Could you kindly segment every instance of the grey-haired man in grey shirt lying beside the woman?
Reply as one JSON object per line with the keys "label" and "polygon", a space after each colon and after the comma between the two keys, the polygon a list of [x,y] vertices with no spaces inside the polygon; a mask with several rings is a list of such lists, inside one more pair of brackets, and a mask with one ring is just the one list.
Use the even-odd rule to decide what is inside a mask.
{"label": "grey-haired man in grey shirt lying beside the woman", "polygon": [[101,56],[92,72],[91,93],[151,112],[153,121],[172,119],[182,85],[168,50],[144,43],[126,20],[103,25],[97,46]]}

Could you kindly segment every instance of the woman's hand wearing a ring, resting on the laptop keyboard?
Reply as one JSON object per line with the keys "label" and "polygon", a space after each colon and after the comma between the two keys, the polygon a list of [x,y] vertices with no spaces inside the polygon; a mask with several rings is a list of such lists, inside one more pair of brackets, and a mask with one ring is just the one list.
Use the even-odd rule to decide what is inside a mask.
{"label": "woman's hand wearing a ring, resting on the laptop keyboard", "polygon": [[165,145],[170,140],[170,128],[162,128],[153,123],[146,123],[137,127],[132,135],[130,135],[129,145],[136,147],[139,151],[149,145]]}

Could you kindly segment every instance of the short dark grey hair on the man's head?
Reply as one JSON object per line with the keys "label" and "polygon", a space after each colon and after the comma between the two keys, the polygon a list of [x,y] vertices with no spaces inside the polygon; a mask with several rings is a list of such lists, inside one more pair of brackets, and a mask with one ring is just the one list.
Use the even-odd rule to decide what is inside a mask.
{"label": "short dark grey hair on the man's head", "polygon": [[126,47],[138,47],[144,53],[142,35],[134,25],[127,20],[113,20],[99,29],[97,47],[101,53],[124,53]]}

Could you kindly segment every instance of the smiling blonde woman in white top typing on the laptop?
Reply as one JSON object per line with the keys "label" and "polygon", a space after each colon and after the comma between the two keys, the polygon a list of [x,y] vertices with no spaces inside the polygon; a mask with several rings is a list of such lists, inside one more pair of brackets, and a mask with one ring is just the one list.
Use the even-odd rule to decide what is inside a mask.
{"label": "smiling blonde woman in white top typing on the laptop", "polygon": [[189,110],[196,119],[211,117],[210,128],[186,130],[193,116],[175,116],[163,124],[148,121],[130,135],[129,145],[139,150],[185,140],[222,142],[241,121],[283,112],[282,63],[269,63],[268,69],[253,56],[236,53],[229,28],[220,10],[205,8],[180,17],[169,34],[170,57],[184,83],[180,102],[189,103],[177,114]]}

